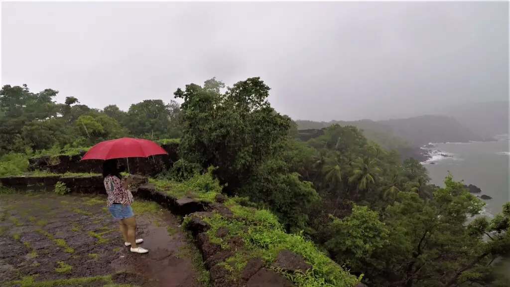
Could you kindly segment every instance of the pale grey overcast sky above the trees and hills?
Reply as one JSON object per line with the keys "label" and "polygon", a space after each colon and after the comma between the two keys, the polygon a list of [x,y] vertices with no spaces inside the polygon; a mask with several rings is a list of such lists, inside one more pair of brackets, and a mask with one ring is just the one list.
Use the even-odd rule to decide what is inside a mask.
{"label": "pale grey overcast sky above the trees and hills", "polygon": [[2,3],[2,84],[127,110],[260,76],[294,119],[508,99],[508,3]]}

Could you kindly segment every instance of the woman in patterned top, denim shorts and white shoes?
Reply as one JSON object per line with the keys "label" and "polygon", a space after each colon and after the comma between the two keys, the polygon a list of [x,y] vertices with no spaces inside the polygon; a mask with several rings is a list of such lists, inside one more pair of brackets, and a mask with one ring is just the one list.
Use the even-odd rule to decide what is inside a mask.
{"label": "woman in patterned top, denim shorts and white shoes", "polygon": [[131,246],[131,252],[147,253],[147,249],[141,248],[138,244],[143,239],[135,240],[136,220],[131,204],[133,195],[129,189],[129,184],[133,181],[132,177],[123,179],[120,173],[124,171],[124,166],[119,166],[117,159],[108,159],[103,163],[103,177],[106,192],[108,193],[108,211],[113,218],[119,221],[120,233],[124,238],[124,245]]}

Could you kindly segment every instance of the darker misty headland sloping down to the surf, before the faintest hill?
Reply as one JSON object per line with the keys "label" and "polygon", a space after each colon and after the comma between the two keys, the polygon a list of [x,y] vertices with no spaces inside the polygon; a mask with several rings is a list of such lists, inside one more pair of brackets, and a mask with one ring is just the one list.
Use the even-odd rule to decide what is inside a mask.
{"label": "darker misty headland sloping down to the surf, before the faintest hill", "polygon": [[423,146],[429,142],[483,140],[483,137],[463,126],[455,118],[445,115],[422,115],[377,123],[389,127],[396,136],[410,141],[415,146]]}

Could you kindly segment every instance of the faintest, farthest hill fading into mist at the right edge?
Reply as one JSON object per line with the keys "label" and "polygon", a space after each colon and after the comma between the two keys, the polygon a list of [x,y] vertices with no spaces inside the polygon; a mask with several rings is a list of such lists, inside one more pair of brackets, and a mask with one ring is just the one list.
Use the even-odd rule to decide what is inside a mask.
{"label": "faintest, farthest hill fading into mist at the right edge", "polygon": [[456,106],[438,107],[430,114],[443,114],[454,117],[464,127],[484,139],[499,134],[508,134],[508,101],[468,103]]}

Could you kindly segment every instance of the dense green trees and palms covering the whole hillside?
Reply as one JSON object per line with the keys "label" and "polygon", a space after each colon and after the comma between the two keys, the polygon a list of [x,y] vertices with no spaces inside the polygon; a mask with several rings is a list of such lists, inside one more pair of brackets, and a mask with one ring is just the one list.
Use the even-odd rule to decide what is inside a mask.
{"label": "dense green trees and palms covering the whole hillside", "polygon": [[[312,252],[305,256],[312,270],[292,279],[298,286],[349,286],[360,277],[370,287],[510,284],[493,267],[510,251],[510,204],[493,220],[466,224],[484,204],[450,175],[444,187],[429,185],[417,160],[402,162],[352,125],[330,125],[319,137],[296,140],[296,124],[271,107],[270,88],[260,78],[224,88],[214,78],[192,83],[174,93],[181,106],[150,100],[124,112],[90,109],[70,97],[55,103],[54,90],[4,86],[4,174],[19,173],[20,162],[43,149],[75,149],[125,135],[180,137],[180,159],[159,180],[189,182],[210,173],[217,183],[196,180],[190,188],[208,194],[221,185],[229,198],[245,198],[242,206],[253,209],[231,202],[238,214],[264,218],[279,230],[260,226],[243,235],[248,250],[267,260],[283,245],[299,244],[303,256]],[[238,227],[220,217],[209,221],[213,230]],[[331,267],[325,256],[338,265]]]}

